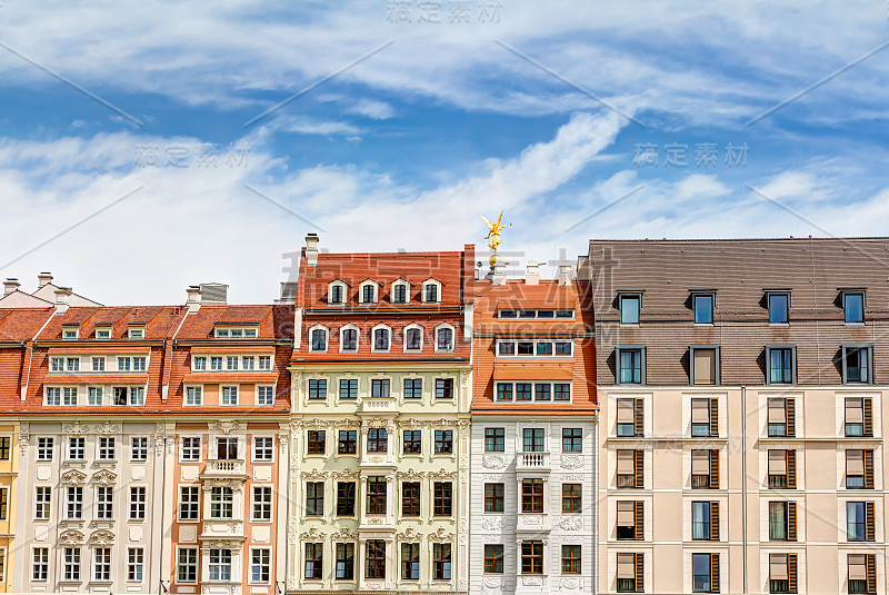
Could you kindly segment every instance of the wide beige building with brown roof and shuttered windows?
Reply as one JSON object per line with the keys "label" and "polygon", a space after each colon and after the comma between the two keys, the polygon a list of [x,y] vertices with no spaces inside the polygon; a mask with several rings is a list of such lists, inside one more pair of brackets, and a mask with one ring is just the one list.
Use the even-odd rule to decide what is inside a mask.
{"label": "wide beige building with brown roof and shuttered windows", "polygon": [[886,592],[889,240],[590,242],[599,593]]}

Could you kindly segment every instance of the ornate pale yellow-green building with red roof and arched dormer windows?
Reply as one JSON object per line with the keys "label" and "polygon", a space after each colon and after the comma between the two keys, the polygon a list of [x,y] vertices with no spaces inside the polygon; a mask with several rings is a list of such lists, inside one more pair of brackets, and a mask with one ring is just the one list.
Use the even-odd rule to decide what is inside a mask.
{"label": "ornate pale yellow-green building with red roof and arched dormer windows", "polygon": [[297,287],[288,593],[466,593],[473,247],[319,254]]}

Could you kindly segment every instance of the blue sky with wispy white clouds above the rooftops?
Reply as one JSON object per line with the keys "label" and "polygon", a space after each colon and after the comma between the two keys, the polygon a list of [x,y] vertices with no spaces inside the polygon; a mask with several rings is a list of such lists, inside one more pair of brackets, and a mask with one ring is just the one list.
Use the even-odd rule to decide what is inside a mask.
{"label": "blue sky with wispy white clouds above the rooftops", "polygon": [[517,269],[595,237],[886,234],[882,0],[483,4],[4,1],[0,275],[267,303],[307,231],[482,249],[500,209]]}

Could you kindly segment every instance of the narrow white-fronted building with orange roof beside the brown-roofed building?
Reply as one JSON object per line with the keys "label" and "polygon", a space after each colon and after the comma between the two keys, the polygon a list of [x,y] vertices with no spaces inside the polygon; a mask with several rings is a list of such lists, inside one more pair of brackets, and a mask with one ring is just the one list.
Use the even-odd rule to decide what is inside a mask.
{"label": "narrow white-fronted building with orange roof beside the brown-roofed building", "polygon": [[596,368],[589,282],[476,284],[470,593],[590,593],[596,567]]}

